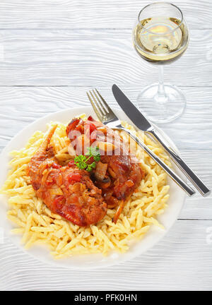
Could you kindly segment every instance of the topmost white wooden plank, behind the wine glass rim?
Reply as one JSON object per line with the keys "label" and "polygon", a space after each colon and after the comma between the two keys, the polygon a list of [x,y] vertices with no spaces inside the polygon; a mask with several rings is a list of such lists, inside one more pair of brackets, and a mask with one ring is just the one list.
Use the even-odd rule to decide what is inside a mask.
{"label": "topmost white wooden plank, behind the wine glass rim", "polygon": [[[0,28],[131,28],[155,0],[1,0]],[[172,0],[190,28],[211,28],[210,0]]]}

